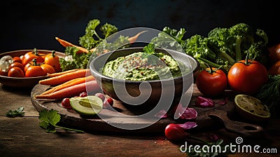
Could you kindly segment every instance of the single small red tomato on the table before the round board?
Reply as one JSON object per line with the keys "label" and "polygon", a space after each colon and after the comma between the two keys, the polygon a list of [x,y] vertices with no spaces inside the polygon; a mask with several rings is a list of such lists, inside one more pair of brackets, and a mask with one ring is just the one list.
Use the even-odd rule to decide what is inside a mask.
{"label": "single small red tomato on the table before the round board", "polygon": [[165,128],[165,136],[171,141],[181,141],[186,139],[189,134],[188,132],[185,132],[185,130],[183,130],[183,128],[181,128],[179,125],[170,123]]}

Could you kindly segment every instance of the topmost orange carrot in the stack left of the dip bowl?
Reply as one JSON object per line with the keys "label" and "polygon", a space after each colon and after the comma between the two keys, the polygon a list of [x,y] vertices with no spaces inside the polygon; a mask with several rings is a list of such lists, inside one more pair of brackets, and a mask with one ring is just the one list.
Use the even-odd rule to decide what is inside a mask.
{"label": "topmost orange carrot in the stack left of the dip bowl", "polygon": [[59,84],[70,81],[74,78],[85,77],[85,75],[90,71],[90,69],[80,69],[70,73],[62,74],[55,77],[50,77],[39,81],[41,85],[57,86]]}

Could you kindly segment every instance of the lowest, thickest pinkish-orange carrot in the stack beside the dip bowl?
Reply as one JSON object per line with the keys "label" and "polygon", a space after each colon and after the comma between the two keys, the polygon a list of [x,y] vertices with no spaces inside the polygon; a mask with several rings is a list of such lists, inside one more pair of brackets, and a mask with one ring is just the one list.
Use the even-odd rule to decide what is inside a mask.
{"label": "lowest, thickest pinkish-orange carrot in the stack beside the dip bowl", "polygon": [[73,97],[83,92],[97,93],[101,89],[99,88],[97,81],[88,81],[80,83],[62,90],[58,90],[48,95],[35,95],[36,99],[48,99],[48,100],[61,100],[65,97]]}

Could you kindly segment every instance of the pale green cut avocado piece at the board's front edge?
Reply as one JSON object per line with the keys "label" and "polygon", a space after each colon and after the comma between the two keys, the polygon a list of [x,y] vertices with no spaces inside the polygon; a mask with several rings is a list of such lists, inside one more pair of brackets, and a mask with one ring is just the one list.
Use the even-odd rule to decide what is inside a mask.
{"label": "pale green cut avocado piece at the board's front edge", "polygon": [[103,101],[97,96],[71,97],[71,107],[80,115],[94,116],[103,109]]}

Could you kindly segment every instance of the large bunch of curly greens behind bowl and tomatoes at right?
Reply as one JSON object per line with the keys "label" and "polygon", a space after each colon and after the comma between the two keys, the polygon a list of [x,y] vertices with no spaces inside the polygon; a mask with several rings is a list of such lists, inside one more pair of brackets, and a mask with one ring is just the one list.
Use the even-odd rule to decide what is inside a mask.
{"label": "large bunch of curly greens behind bowl and tomatoes at right", "polygon": [[[208,36],[195,34],[188,39],[183,39],[185,29],[171,29],[165,27],[151,43],[163,48],[178,49],[178,42],[188,55],[195,57],[200,62],[202,69],[221,67],[228,71],[232,64],[244,60],[246,54],[251,60],[257,60],[268,65],[267,42],[268,37],[264,30],[253,29],[245,23],[238,23],[232,27],[216,27],[209,31]],[[175,41],[170,40],[170,36]]]}

